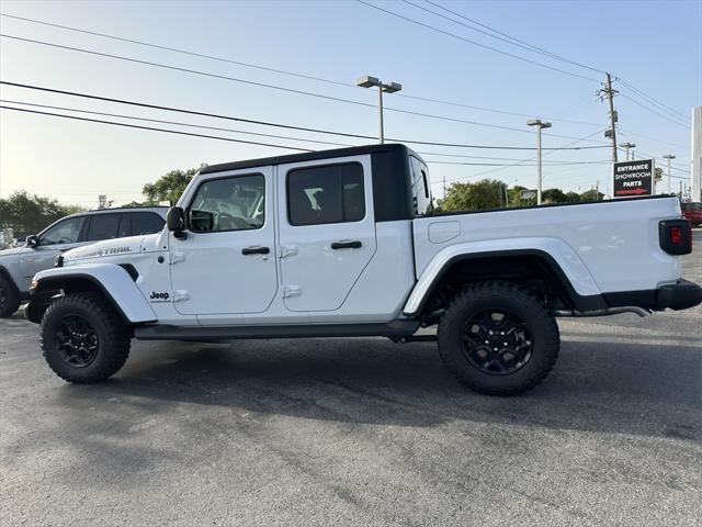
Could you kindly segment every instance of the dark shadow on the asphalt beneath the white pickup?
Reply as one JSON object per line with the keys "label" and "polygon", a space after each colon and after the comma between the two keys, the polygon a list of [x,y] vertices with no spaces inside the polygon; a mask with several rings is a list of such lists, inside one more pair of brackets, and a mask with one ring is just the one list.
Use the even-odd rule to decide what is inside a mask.
{"label": "dark shadow on the asphalt beneath the white pickup", "polygon": [[[63,386],[56,403],[80,407],[118,397],[148,413],[191,403],[339,423],[432,427],[462,421],[700,441],[701,381],[699,350],[643,344],[564,343],[556,368],[534,391],[488,397],[458,385],[433,345],[160,343],[138,345],[107,383]],[[236,423],[222,423],[227,426]]]}

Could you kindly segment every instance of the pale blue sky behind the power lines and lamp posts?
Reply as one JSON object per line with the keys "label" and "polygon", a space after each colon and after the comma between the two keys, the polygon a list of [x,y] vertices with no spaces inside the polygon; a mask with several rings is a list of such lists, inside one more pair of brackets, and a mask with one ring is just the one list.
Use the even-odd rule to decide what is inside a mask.
{"label": "pale blue sky behind the power lines and lamp posts", "polygon": [[[1,37],[0,79],[248,120],[376,136],[377,93],[354,86],[356,78],[373,75],[403,85],[399,93],[385,96],[386,137],[534,147],[535,131],[526,126],[526,120],[548,120],[553,126],[543,132],[544,147],[573,144],[601,148],[548,153],[544,157],[544,188],[582,192],[599,184],[600,190],[609,193],[611,149],[607,148],[609,143],[603,136],[609,109],[596,91],[602,88],[604,80],[601,71],[610,71],[615,79],[613,87],[620,91],[614,100],[620,143],[635,143],[636,157],[655,157],[657,166],[666,166],[663,155],[676,155],[672,175],[677,178],[671,180],[672,190],[677,191],[681,183],[689,184],[689,180],[678,178],[689,177],[689,119],[692,106],[702,104],[702,1],[432,0],[433,4],[424,0],[363,1],[396,14],[353,0],[2,0],[0,11],[7,15],[177,47],[258,68],[0,16],[0,33],[4,35],[215,76]],[[426,10],[507,41],[508,37],[519,38],[571,63],[517,47],[510,44],[514,41],[490,37]],[[500,33],[492,33],[485,26]],[[262,83],[346,101],[283,91],[260,86]],[[349,145],[374,142],[5,85],[0,86],[0,98],[1,104],[8,106],[296,148],[333,147],[304,139]],[[224,127],[240,133],[21,106],[20,103]],[[509,186],[535,188],[536,184],[532,150],[410,146],[429,161],[434,197],[442,195],[444,179],[446,184],[484,177],[500,179]],[[64,203],[97,206],[98,194],[104,193],[118,205],[143,199],[144,183],[152,182],[172,169],[293,152],[3,109],[0,110],[0,197],[26,190]],[[562,165],[575,161],[582,164]]]}

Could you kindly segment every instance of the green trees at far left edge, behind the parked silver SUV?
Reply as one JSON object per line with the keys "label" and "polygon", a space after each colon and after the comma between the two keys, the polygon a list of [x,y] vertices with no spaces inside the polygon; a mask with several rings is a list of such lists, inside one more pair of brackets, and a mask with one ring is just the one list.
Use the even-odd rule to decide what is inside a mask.
{"label": "green trees at far left edge, behind the parked silver SUV", "polygon": [[27,236],[60,217],[82,211],[79,205],[61,205],[57,200],[19,191],[0,199],[0,228],[13,228],[18,237]]}

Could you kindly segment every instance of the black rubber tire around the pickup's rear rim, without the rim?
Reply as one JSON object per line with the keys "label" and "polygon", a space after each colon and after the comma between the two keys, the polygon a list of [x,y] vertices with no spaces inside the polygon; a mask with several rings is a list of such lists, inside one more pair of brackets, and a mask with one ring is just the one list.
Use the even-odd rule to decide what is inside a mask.
{"label": "black rubber tire around the pickup's rear rim, without the rim", "polygon": [[[533,338],[529,360],[508,374],[483,371],[464,352],[467,321],[492,309],[517,315]],[[477,282],[456,294],[441,317],[438,337],[439,354],[449,370],[462,384],[487,395],[516,395],[533,389],[553,369],[561,345],[558,325],[543,301],[528,288],[506,281]]]}

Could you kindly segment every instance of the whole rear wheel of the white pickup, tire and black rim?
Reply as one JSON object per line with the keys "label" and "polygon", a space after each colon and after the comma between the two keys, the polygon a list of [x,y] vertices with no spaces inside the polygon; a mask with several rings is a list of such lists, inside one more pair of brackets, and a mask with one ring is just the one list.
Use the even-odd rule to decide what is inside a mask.
{"label": "whole rear wheel of the white pickup, tire and black rim", "polygon": [[488,395],[531,390],[551,372],[561,345],[544,303],[511,282],[468,285],[439,323],[439,352],[466,386]]}

